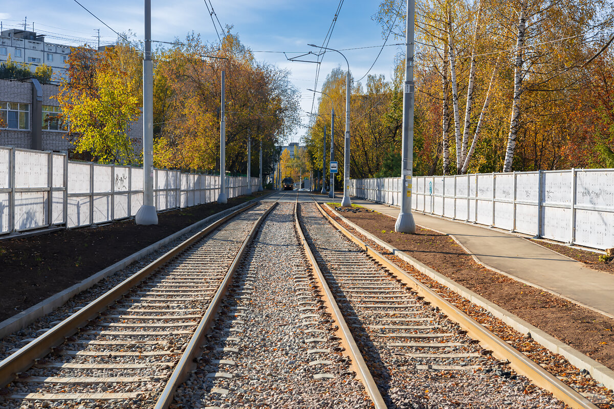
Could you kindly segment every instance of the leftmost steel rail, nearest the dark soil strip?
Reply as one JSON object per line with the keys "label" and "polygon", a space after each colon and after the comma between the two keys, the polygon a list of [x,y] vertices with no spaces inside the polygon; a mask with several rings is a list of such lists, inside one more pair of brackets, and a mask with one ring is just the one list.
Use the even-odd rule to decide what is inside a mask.
{"label": "leftmost steel rail, nearest the dark soil strip", "polygon": [[176,257],[177,254],[180,254],[186,248],[190,247],[190,245],[204,237],[204,235],[209,234],[209,232],[213,231],[221,224],[235,217],[239,213],[254,207],[255,204],[256,203],[253,203],[235,210],[235,212],[232,212],[220,220],[209,224],[209,226],[192,235],[192,237],[177,245],[177,247],[169,250],[146,267],[143,267],[138,272],[126,278],[126,280],[122,281],[117,286],[104,293],[102,296],[99,296],[97,299],[90,302],[90,304],[81,308],[78,312],[64,319],[61,321],[61,323],[56,324],[56,326],[52,327],[52,329],[29,342],[14,354],[7,356],[0,362],[0,387],[4,387],[13,381],[17,376],[17,373],[23,372],[36,364],[37,359],[49,354],[52,351],[52,348],[61,345],[66,337],[76,333],[80,327],[87,325],[92,319],[98,317],[101,312],[109,307],[109,305],[119,300],[124,294],[130,291],[131,288],[149,277],[149,275],[155,272],[155,270],[171,261],[171,259]]}

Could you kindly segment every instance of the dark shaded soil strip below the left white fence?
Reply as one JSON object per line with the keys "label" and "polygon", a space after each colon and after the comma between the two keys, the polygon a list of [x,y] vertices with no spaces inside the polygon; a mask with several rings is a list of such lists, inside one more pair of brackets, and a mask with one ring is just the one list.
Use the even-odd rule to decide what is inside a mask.
{"label": "dark shaded soil strip below the left white fence", "polygon": [[[266,193],[266,192],[265,192]],[[158,213],[157,226],[134,220],[0,240],[0,321],[214,213],[261,196]]]}

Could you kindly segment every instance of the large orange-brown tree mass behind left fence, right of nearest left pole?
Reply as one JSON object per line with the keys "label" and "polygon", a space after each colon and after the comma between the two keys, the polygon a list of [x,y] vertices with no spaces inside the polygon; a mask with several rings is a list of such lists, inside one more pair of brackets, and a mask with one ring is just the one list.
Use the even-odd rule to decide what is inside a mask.
{"label": "large orange-brown tree mass behind left fence, right of nearest left pole", "polygon": [[297,126],[298,93],[289,72],[257,61],[230,29],[221,47],[191,34],[160,53],[154,74],[157,166],[219,169],[222,71],[228,171],[245,172],[248,134],[252,153],[262,141],[265,172],[271,169],[275,146]]}

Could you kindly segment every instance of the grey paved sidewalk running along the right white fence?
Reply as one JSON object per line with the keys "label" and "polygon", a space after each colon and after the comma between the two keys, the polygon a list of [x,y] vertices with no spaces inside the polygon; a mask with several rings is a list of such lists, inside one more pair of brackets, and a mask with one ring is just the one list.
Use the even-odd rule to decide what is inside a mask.
{"label": "grey paved sidewalk running along the right white fence", "polygon": [[[314,195],[318,202],[324,202],[317,196]],[[397,207],[356,197],[352,197],[352,204],[394,217],[399,212]],[[614,274],[588,269],[581,262],[497,229],[419,212],[413,215],[419,226],[456,237],[484,264],[614,316]]]}

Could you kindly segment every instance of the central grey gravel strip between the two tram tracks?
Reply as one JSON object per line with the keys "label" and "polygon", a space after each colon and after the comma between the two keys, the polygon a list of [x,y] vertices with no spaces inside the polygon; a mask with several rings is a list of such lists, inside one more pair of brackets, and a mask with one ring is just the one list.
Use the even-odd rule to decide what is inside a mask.
{"label": "central grey gravel strip between the two tram tracks", "polygon": [[280,203],[250,245],[176,407],[373,407],[306,260],[295,206]]}

